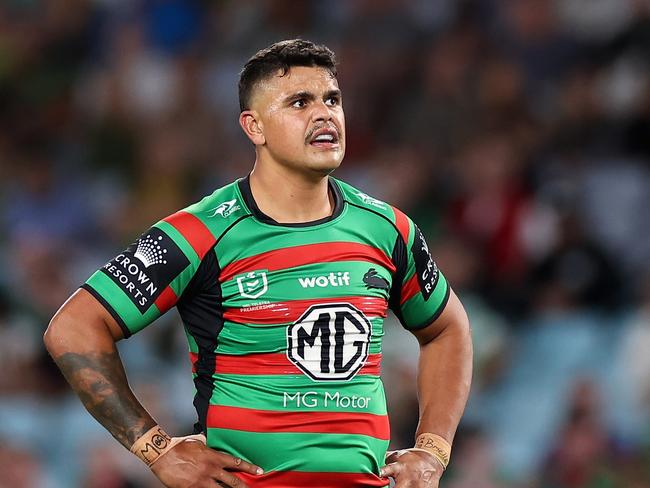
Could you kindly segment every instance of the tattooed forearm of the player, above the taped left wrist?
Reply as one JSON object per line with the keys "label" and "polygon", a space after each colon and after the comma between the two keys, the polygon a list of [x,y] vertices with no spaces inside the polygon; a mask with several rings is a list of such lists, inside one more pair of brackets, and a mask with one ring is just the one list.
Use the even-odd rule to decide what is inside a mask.
{"label": "tattooed forearm of the player, above the taped left wrist", "polygon": [[110,333],[80,320],[57,314],[45,344],[88,412],[128,449],[156,422],[131,391]]}

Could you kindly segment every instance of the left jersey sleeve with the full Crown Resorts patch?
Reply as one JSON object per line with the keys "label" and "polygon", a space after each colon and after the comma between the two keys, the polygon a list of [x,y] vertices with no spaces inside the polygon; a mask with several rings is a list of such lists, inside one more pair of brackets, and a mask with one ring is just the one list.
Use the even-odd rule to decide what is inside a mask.
{"label": "left jersey sleeve with the full Crown Resorts patch", "polygon": [[158,222],[81,286],[111,313],[125,337],[176,305],[214,242],[191,233],[192,218],[179,212]]}

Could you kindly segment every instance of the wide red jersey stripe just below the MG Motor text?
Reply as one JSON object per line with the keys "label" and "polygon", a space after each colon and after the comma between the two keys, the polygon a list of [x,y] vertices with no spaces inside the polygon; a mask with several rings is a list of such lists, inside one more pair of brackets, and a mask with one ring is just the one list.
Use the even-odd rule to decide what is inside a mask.
{"label": "wide red jersey stripe just below the MG Motor text", "polygon": [[[354,403],[355,397],[352,397]],[[362,398],[362,405],[368,400]],[[207,427],[245,432],[359,434],[389,440],[388,415],[360,412],[291,412],[210,405]]]}

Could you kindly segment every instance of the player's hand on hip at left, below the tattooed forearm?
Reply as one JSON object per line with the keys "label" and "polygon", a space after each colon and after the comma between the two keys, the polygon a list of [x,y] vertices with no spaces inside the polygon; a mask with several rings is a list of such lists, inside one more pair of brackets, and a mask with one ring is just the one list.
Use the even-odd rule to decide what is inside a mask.
{"label": "player's hand on hip at left, below the tattooed forearm", "polygon": [[203,442],[188,440],[161,456],[151,466],[151,471],[168,488],[248,488],[231,471],[262,474],[261,468],[243,459],[210,449]]}

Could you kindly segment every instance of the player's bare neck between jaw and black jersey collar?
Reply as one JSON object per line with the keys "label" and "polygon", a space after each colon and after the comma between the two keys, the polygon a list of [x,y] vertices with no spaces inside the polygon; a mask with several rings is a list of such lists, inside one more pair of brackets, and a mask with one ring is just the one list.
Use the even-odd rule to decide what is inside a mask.
{"label": "player's bare neck between jaw and black jersey collar", "polygon": [[256,162],[250,184],[259,209],[277,222],[311,222],[328,217],[334,211],[327,176],[309,178],[282,167]]}

